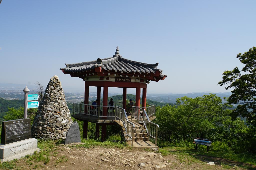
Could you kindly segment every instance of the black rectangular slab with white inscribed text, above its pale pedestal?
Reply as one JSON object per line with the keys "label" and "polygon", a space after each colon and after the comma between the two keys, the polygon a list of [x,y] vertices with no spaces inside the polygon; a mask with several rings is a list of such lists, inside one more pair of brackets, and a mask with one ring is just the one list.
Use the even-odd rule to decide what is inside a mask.
{"label": "black rectangular slab with white inscribed text, above its pale pedestal", "polygon": [[2,122],[1,144],[5,145],[29,138],[31,138],[29,118]]}

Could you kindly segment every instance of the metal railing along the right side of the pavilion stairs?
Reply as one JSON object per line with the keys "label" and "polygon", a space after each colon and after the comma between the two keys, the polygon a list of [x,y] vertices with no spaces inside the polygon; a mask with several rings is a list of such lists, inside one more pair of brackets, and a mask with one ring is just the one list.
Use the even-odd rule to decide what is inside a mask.
{"label": "metal railing along the right side of the pavilion stairs", "polygon": [[151,138],[155,139],[155,146],[157,144],[157,132],[158,132],[158,124],[155,124],[150,121],[147,112],[145,109],[140,107],[132,107],[132,118],[143,122],[143,126],[146,129],[148,134],[148,140]]}

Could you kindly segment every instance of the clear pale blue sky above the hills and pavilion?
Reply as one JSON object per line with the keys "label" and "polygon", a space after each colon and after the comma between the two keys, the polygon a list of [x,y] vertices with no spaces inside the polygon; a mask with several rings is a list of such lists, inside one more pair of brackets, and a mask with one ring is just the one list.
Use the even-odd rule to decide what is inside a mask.
{"label": "clear pale blue sky above the hills and pavilion", "polygon": [[218,85],[222,72],[241,68],[236,55],[255,46],[255,5],[2,0],[0,82],[46,86],[58,75],[64,90],[83,91],[82,79],[59,71],[64,62],[111,57],[119,46],[124,58],[159,62],[168,75],[151,82],[148,93],[226,92]]}

